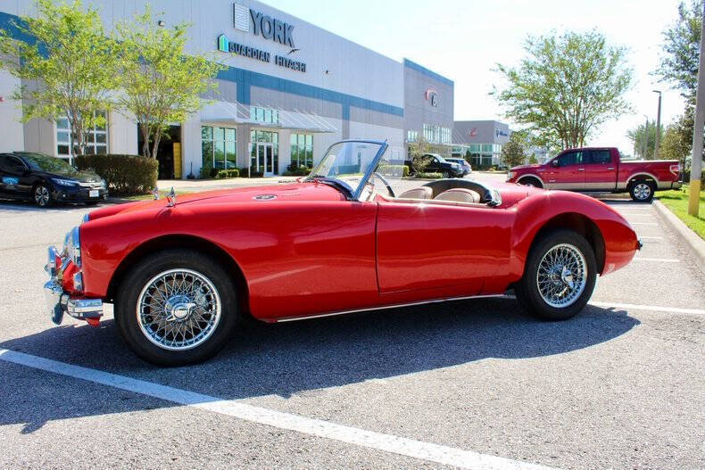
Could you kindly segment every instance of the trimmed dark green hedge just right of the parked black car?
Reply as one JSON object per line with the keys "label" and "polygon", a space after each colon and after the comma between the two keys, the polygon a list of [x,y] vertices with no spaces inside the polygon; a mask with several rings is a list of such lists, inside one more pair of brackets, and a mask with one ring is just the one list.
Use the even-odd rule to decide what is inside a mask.
{"label": "trimmed dark green hedge just right of the parked black car", "polygon": [[79,155],[78,169],[92,169],[117,195],[148,194],[157,186],[159,161],[139,155]]}

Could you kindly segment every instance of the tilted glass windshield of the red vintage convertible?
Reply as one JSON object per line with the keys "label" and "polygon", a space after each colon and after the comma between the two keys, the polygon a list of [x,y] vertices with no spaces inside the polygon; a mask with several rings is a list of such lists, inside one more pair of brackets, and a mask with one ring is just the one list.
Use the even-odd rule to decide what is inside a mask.
{"label": "tilted glass windshield of the red vintage convertible", "polygon": [[357,197],[365,176],[384,149],[386,144],[380,142],[338,142],[328,149],[306,180],[322,178],[344,187],[352,197]]}

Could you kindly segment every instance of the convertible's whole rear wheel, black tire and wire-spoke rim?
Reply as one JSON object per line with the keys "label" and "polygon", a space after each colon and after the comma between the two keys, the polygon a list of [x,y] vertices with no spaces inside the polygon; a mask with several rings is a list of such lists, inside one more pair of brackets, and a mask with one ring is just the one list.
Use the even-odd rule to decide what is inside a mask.
{"label": "convertible's whole rear wheel, black tire and wire-spoke rim", "polygon": [[593,295],[597,262],[582,235],[560,229],[543,235],[529,251],[515,286],[519,304],[536,317],[574,317]]}

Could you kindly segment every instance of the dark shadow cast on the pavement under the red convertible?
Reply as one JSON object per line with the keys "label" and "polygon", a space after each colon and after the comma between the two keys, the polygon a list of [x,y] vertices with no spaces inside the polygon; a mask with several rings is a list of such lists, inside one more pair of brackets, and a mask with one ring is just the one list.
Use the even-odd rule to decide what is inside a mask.
{"label": "dark shadow cast on the pavement under the red convertible", "polygon": [[[623,310],[594,306],[568,321],[545,322],[528,316],[512,299],[487,298],[276,325],[255,322],[236,332],[218,356],[190,367],[153,367],[137,359],[120,339],[112,319],[104,320],[99,328],[49,328],[2,342],[0,347],[220,400],[237,400],[270,394],[289,397],[487,358],[561,354],[613,340],[637,325],[639,321]],[[37,392],[30,383],[21,385],[12,376],[4,380],[8,381],[4,387],[12,387],[15,395],[35,400],[31,397]],[[0,385],[4,380],[0,379]],[[148,397],[117,400],[114,397],[123,392],[93,386],[99,391],[94,393],[99,407],[84,400],[79,406],[47,410],[18,407],[3,403],[10,400],[7,397],[0,399],[0,409],[4,409],[0,425],[174,406]],[[56,390],[55,394],[64,393]],[[147,401],[158,404],[147,406]],[[33,426],[37,427],[26,429],[31,431]]]}

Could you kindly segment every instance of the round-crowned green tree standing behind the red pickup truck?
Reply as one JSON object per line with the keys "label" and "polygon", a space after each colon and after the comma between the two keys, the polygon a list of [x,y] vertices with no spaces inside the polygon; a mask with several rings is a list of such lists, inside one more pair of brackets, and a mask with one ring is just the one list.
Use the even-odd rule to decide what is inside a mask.
{"label": "round-crowned green tree standing behind the red pickup truck", "polygon": [[624,95],[633,70],[626,50],[608,45],[599,32],[529,36],[524,49],[518,68],[497,65],[509,84],[493,95],[537,144],[582,146],[603,123],[630,111]]}

